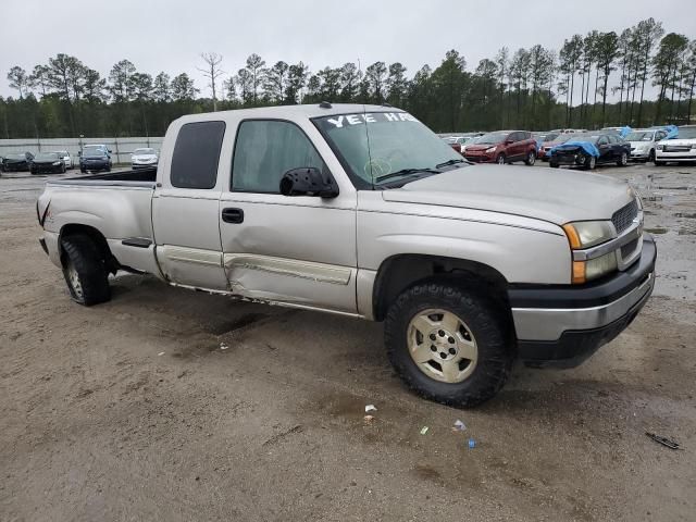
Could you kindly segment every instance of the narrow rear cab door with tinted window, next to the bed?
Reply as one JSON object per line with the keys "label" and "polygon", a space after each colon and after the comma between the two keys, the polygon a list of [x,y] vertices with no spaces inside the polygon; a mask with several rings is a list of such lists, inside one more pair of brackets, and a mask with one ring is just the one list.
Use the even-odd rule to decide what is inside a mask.
{"label": "narrow rear cab door with tinted window, next to the bed", "polygon": [[[170,126],[152,197],[157,259],[172,283],[225,290],[219,209],[227,174],[226,125],[221,121]],[[169,150],[167,150],[169,149]],[[222,160],[222,161],[221,161]]]}

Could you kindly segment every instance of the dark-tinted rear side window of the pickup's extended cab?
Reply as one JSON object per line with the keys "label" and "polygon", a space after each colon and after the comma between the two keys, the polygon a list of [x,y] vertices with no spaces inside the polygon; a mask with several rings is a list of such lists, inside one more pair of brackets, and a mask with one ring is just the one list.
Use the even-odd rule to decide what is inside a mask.
{"label": "dark-tinted rear side window of the pickup's extended cab", "polygon": [[217,182],[217,165],[225,122],[186,123],[176,136],[170,179],[176,188],[210,189]]}

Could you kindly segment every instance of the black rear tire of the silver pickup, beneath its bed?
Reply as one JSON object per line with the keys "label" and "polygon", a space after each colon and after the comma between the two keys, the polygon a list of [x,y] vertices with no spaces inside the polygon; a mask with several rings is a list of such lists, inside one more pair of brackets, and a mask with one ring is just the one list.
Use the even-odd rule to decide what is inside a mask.
{"label": "black rear tire of the silver pickup, beneath its bed", "polygon": [[[85,307],[111,299],[109,272],[95,243],[85,235],[72,235],[62,240],[63,276],[73,300]],[[71,265],[77,272],[80,291],[76,291],[70,277]]]}

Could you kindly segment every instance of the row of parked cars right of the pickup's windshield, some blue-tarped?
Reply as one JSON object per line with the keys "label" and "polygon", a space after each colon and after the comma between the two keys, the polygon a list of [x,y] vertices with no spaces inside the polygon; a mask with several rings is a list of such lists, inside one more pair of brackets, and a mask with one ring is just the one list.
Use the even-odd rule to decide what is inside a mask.
{"label": "row of parked cars right of the pickup's windshield, some blue-tarped", "polygon": [[696,125],[600,130],[555,129],[546,133],[497,130],[468,135],[442,135],[450,147],[474,163],[527,165],[536,160],[550,166],[587,170],[597,165],[626,165],[630,161],[696,162]]}

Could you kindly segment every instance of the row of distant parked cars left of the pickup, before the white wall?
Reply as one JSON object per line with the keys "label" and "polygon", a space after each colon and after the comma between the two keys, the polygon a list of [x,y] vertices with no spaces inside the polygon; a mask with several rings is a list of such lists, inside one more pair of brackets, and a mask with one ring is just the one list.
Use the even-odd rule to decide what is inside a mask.
{"label": "row of distant parked cars left of the pickup, before the white wall", "polygon": [[[111,172],[113,162],[111,150],[105,145],[85,145],[78,152],[79,171],[87,172]],[[140,148],[130,154],[130,165],[133,169],[157,166],[159,153],[152,148]],[[73,158],[66,150],[55,150],[51,152],[20,152],[0,157],[0,171],[2,172],[30,172],[32,174],[64,173],[75,167]]]}

